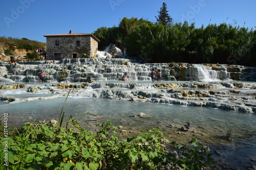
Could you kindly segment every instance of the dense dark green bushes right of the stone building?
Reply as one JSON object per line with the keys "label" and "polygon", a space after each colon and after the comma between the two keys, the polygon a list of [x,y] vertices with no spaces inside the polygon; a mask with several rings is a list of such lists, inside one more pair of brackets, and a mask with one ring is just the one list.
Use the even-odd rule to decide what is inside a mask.
{"label": "dense dark green bushes right of the stone building", "polygon": [[123,18],[118,27],[99,28],[94,35],[101,38],[99,50],[116,43],[126,49],[128,56],[143,56],[151,62],[256,66],[256,31],[226,23],[196,28],[186,21],[163,26],[144,19]]}

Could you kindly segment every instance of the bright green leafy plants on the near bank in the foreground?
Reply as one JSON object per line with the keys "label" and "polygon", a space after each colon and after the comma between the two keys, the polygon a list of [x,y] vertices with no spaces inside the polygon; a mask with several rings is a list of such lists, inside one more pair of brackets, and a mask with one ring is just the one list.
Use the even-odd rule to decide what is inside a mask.
{"label": "bright green leafy plants on the near bank in the foreground", "polygon": [[[186,151],[177,159],[165,152],[162,144],[168,140],[157,129],[141,131],[139,136],[121,140],[117,128],[108,121],[99,124],[100,130],[96,133],[81,127],[76,117],[72,116],[66,127],[62,127],[64,113],[62,107],[58,125],[45,121],[25,123],[23,128],[17,130],[18,135],[9,137],[8,164],[1,160],[0,168],[162,169],[172,162],[184,169],[200,169],[211,163],[211,154],[208,150],[200,152],[202,144],[194,138],[191,144],[195,150],[176,146]],[[3,146],[4,139],[0,142],[1,155],[6,153]]]}

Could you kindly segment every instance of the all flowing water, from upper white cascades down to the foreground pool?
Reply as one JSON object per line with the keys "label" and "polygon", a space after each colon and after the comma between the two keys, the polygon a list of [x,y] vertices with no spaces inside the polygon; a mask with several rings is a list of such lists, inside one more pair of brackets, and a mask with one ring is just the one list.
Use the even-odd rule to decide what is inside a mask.
{"label": "all flowing water, from upper white cascades down to the foreground pool", "polygon": [[[179,86],[157,89],[150,78],[152,68],[161,69],[163,75],[161,83]],[[41,69],[47,74],[45,84],[38,84],[37,75]],[[195,137],[204,145],[209,145],[215,160],[227,162],[229,167],[244,168],[251,166],[254,163],[252,160],[256,160],[256,114],[253,112],[255,96],[249,95],[255,92],[255,84],[251,83],[248,86],[245,83],[246,87],[239,88],[240,93],[237,93],[238,88],[233,87],[232,83],[239,82],[230,79],[225,66],[221,71],[216,71],[201,64],[191,64],[184,72],[180,72],[185,81],[170,81],[173,79],[170,72],[174,70],[170,71],[166,63],[139,64],[136,61],[123,59],[66,59],[57,65],[44,65],[39,61],[14,66],[2,63],[0,70],[0,86],[2,85],[0,98],[14,99],[0,100],[0,113],[1,115],[8,113],[9,126],[22,126],[24,122],[33,122],[33,119],[58,120],[70,88],[59,89],[53,85],[72,83],[74,84],[72,87],[81,86],[86,78],[91,76],[94,83],[71,91],[63,107],[66,120],[69,115],[74,117],[89,111],[102,118],[82,115],[78,117],[81,126],[86,126],[86,121],[91,119],[99,119],[100,122],[109,120],[116,127],[122,126],[123,129],[119,130],[125,130],[130,135],[137,134],[140,130],[157,128],[167,139],[178,143],[189,144],[191,137]],[[120,81],[123,75],[128,77],[129,81]],[[179,75],[175,76],[178,77]],[[206,82],[215,88],[195,87],[200,83],[203,87]],[[18,84],[26,84],[26,86],[8,90],[9,85]],[[4,88],[7,90],[3,90]],[[216,98],[210,97],[206,101],[199,97],[193,99],[194,97],[191,96],[174,99],[176,95],[174,92],[178,94],[181,90],[189,92],[211,90],[213,93],[216,91],[219,93],[216,92]],[[128,101],[139,95],[146,96],[146,99]],[[215,102],[230,106],[238,105],[241,108],[244,101],[248,101],[247,106],[251,106],[249,111],[246,109],[242,110],[244,112],[236,109],[230,111],[225,105],[221,108],[226,110],[209,108],[211,105],[188,106],[189,103],[194,105],[200,102]],[[150,117],[138,117],[141,112]],[[187,122],[191,125],[191,131],[179,131],[179,128]],[[90,122],[90,124],[94,127],[97,123]],[[169,124],[174,127],[168,127]],[[230,128],[232,140],[228,141],[226,133]],[[125,132],[122,134],[125,136]]]}

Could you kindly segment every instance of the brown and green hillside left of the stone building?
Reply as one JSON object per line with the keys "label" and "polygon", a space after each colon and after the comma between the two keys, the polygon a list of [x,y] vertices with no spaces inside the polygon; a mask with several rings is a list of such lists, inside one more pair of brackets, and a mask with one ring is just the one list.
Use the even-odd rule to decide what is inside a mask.
{"label": "brown and green hillside left of the stone building", "polygon": [[5,53],[5,55],[31,53],[40,47],[46,48],[46,43],[27,38],[0,37],[0,52]]}

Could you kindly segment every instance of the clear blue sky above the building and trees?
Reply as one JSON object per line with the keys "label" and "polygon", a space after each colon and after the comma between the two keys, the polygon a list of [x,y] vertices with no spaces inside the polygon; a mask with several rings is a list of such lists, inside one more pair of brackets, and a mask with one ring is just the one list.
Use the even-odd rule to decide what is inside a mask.
{"label": "clear blue sky above the building and trees", "polygon": [[46,42],[44,35],[93,33],[118,26],[123,17],[156,22],[163,2],[174,22],[256,26],[255,0],[11,0],[1,2],[0,36]]}

